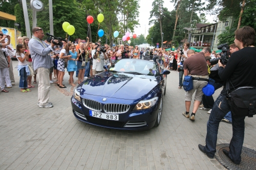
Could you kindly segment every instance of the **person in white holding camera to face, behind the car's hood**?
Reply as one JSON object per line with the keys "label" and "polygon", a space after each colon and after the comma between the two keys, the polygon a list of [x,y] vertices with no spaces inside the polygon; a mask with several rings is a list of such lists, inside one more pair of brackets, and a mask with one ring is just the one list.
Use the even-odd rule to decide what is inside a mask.
{"label": "person in white holding camera to face, behind the car's hood", "polygon": [[103,65],[104,60],[108,59],[108,56],[106,56],[105,52],[102,52],[104,47],[100,45],[100,42],[95,43],[96,48],[92,51],[93,56],[93,75],[96,75],[102,71],[104,71]]}

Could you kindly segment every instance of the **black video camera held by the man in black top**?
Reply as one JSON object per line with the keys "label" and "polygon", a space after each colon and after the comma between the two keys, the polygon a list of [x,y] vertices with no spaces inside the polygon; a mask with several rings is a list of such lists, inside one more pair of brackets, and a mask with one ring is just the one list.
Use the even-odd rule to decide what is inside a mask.
{"label": "black video camera held by the man in black top", "polygon": [[211,60],[210,60],[210,65],[215,65],[215,64],[217,64],[217,63],[219,62],[219,60],[221,61],[221,63],[222,63],[223,65],[226,65],[227,62],[228,62],[229,55],[230,55],[230,53],[229,53],[229,48],[228,48],[227,43],[221,44],[221,45],[217,46],[217,48],[218,48],[218,50],[221,50],[221,51],[222,51],[222,52],[221,52],[221,57],[211,59]]}

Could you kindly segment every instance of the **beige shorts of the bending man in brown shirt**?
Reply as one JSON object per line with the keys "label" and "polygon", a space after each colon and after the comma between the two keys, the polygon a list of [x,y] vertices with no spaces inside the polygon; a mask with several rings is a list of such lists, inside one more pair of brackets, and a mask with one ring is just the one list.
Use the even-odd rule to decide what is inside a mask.
{"label": "beige shorts of the bending man in brown shirt", "polygon": [[[207,79],[207,78],[205,78]],[[202,96],[203,96],[203,91],[202,88],[208,84],[206,81],[201,81],[201,80],[193,80],[193,89],[190,91],[186,91],[185,94],[185,101],[192,101],[192,95],[196,91],[195,94],[195,100],[201,102],[202,101]]]}

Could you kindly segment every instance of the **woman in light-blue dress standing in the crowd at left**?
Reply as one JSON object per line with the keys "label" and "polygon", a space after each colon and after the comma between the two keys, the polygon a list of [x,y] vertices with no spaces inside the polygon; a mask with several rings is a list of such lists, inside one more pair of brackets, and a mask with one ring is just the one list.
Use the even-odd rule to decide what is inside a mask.
{"label": "woman in light-blue dress standing in the crowd at left", "polygon": [[78,60],[77,52],[75,51],[75,49],[76,49],[75,44],[72,44],[71,50],[69,51],[72,57],[68,58],[68,67],[67,67],[67,70],[70,76],[69,84],[71,84],[72,86],[75,86],[75,84],[73,83],[73,75],[74,75],[74,71],[77,69],[76,61]]}

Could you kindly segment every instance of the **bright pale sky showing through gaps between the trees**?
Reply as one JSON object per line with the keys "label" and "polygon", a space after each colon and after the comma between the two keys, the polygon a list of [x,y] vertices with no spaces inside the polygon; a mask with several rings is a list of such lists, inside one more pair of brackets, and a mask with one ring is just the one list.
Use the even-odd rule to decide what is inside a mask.
{"label": "bright pale sky showing through gaps between the trees", "polygon": [[[150,21],[150,11],[152,10],[152,3],[154,0],[140,0],[140,9],[139,9],[139,23],[140,26],[138,28],[134,29],[134,33],[137,35],[141,35],[145,33],[146,29],[146,35],[148,34],[148,29],[152,26],[148,26],[148,22]],[[170,0],[163,0],[164,4],[163,6],[168,8],[169,11],[172,11],[174,9],[174,4],[170,3]],[[214,22],[212,16],[206,15],[206,19],[209,22]]]}

